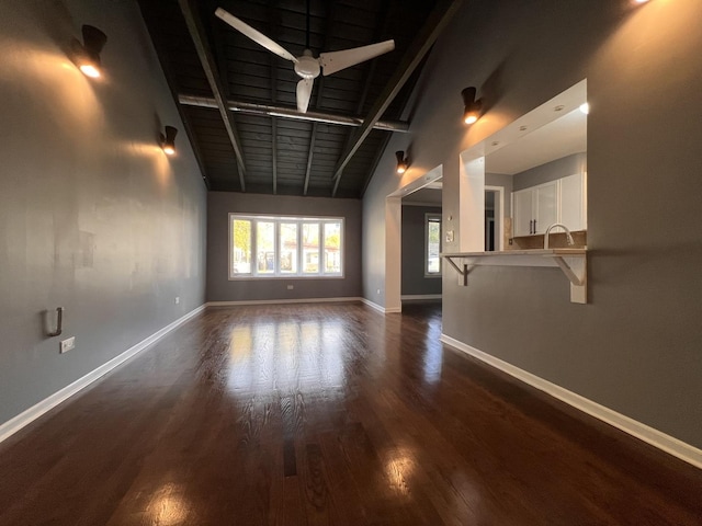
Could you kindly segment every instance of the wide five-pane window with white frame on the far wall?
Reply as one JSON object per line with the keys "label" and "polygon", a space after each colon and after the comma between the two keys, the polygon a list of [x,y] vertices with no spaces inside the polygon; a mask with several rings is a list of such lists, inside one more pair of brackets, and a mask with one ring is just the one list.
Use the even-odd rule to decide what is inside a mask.
{"label": "wide five-pane window with white frame on the far wall", "polygon": [[343,219],[229,214],[229,278],[343,276]]}

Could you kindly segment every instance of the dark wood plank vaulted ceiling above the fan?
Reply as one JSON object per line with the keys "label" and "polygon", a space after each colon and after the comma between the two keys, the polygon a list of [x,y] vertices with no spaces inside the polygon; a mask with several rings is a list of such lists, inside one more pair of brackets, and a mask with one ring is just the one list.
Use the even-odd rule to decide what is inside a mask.
{"label": "dark wood plank vaulted ceiling above the fan", "polygon": [[[214,15],[215,9],[222,7],[299,56],[307,36],[306,0],[139,0],[171,91],[181,101],[185,132],[211,190],[362,197],[390,134],[401,133],[369,128],[370,133],[359,141],[364,119],[367,126],[369,118],[383,108],[381,102],[385,101],[387,107],[380,113],[380,121],[401,127],[398,122],[422,64],[409,66],[412,54],[421,56],[422,44],[423,50],[429,48],[433,42],[431,32],[435,33],[442,12],[455,2],[309,3],[309,45],[314,56],[395,39],[394,52],[315,79],[308,113],[355,117],[355,126],[267,114],[272,106],[296,116],[295,88],[299,77],[293,64]],[[200,49],[192,24],[202,37]],[[231,133],[215,104],[215,90],[203,67],[203,49],[211,56],[213,75],[218,77],[222,99],[229,107],[225,116]],[[403,73],[407,80],[399,89],[396,83]],[[184,103],[185,96],[191,98],[190,102]],[[195,99],[200,102],[204,99],[213,107],[193,105],[192,98],[200,98]],[[241,106],[249,112],[230,110]],[[239,160],[235,146],[240,151]]]}

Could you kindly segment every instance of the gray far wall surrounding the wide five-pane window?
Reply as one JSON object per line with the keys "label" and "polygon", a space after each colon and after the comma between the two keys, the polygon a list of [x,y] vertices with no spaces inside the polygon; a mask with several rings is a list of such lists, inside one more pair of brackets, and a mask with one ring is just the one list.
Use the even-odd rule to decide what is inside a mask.
{"label": "gray far wall surrounding the wide five-pane window", "polygon": [[[361,296],[360,201],[210,192],[207,203],[208,301],[358,298]],[[229,281],[229,213],[343,217],[343,278],[286,277]],[[293,290],[288,290],[287,285],[293,285]]]}

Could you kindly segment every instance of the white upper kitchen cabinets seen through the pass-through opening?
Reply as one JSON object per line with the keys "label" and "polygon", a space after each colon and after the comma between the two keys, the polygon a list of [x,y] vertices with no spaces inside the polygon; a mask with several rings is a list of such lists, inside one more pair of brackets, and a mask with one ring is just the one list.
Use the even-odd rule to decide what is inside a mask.
{"label": "white upper kitchen cabinets seen through the pass-through opening", "polygon": [[512,193],[514,237],[544,233],[559,218],[559,182]]}

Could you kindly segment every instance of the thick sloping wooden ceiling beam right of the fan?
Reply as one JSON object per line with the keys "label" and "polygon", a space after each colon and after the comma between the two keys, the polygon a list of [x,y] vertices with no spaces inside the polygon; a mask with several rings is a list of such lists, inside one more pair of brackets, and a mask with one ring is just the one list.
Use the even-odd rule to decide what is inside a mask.
{"label": "thick sloping wooden ceiling beam right of the fan", "polygon": [[371,107],[369,115],[363,121],[363,125],[355,130],[351,144],[346,148],[341,159],[337,163],[337,168],[333,173],[336,182],[333,191],[331,192],[332,197],[337,195],[343,169],[369,136],[373,129],[373,125],[380,121],[385,110],[387,110],[387,106],[390,105],[395,96],[397,96],[399,91],[403,89],[403,85],[405,85],[405,82],[407,82],[417,66],[419,66],[424,55],[429,53],[429,49],[431,49],[431,46],[434,44],[449,21],[458,11],[462,3],[463,0],[440,0],[437,3],[437,7],[427,19],[427,23],[419,32],[418,37],[409,46],[409,49],[407,49],[399,67],[395,70],[395,73],[393,73],[393,77]]}

